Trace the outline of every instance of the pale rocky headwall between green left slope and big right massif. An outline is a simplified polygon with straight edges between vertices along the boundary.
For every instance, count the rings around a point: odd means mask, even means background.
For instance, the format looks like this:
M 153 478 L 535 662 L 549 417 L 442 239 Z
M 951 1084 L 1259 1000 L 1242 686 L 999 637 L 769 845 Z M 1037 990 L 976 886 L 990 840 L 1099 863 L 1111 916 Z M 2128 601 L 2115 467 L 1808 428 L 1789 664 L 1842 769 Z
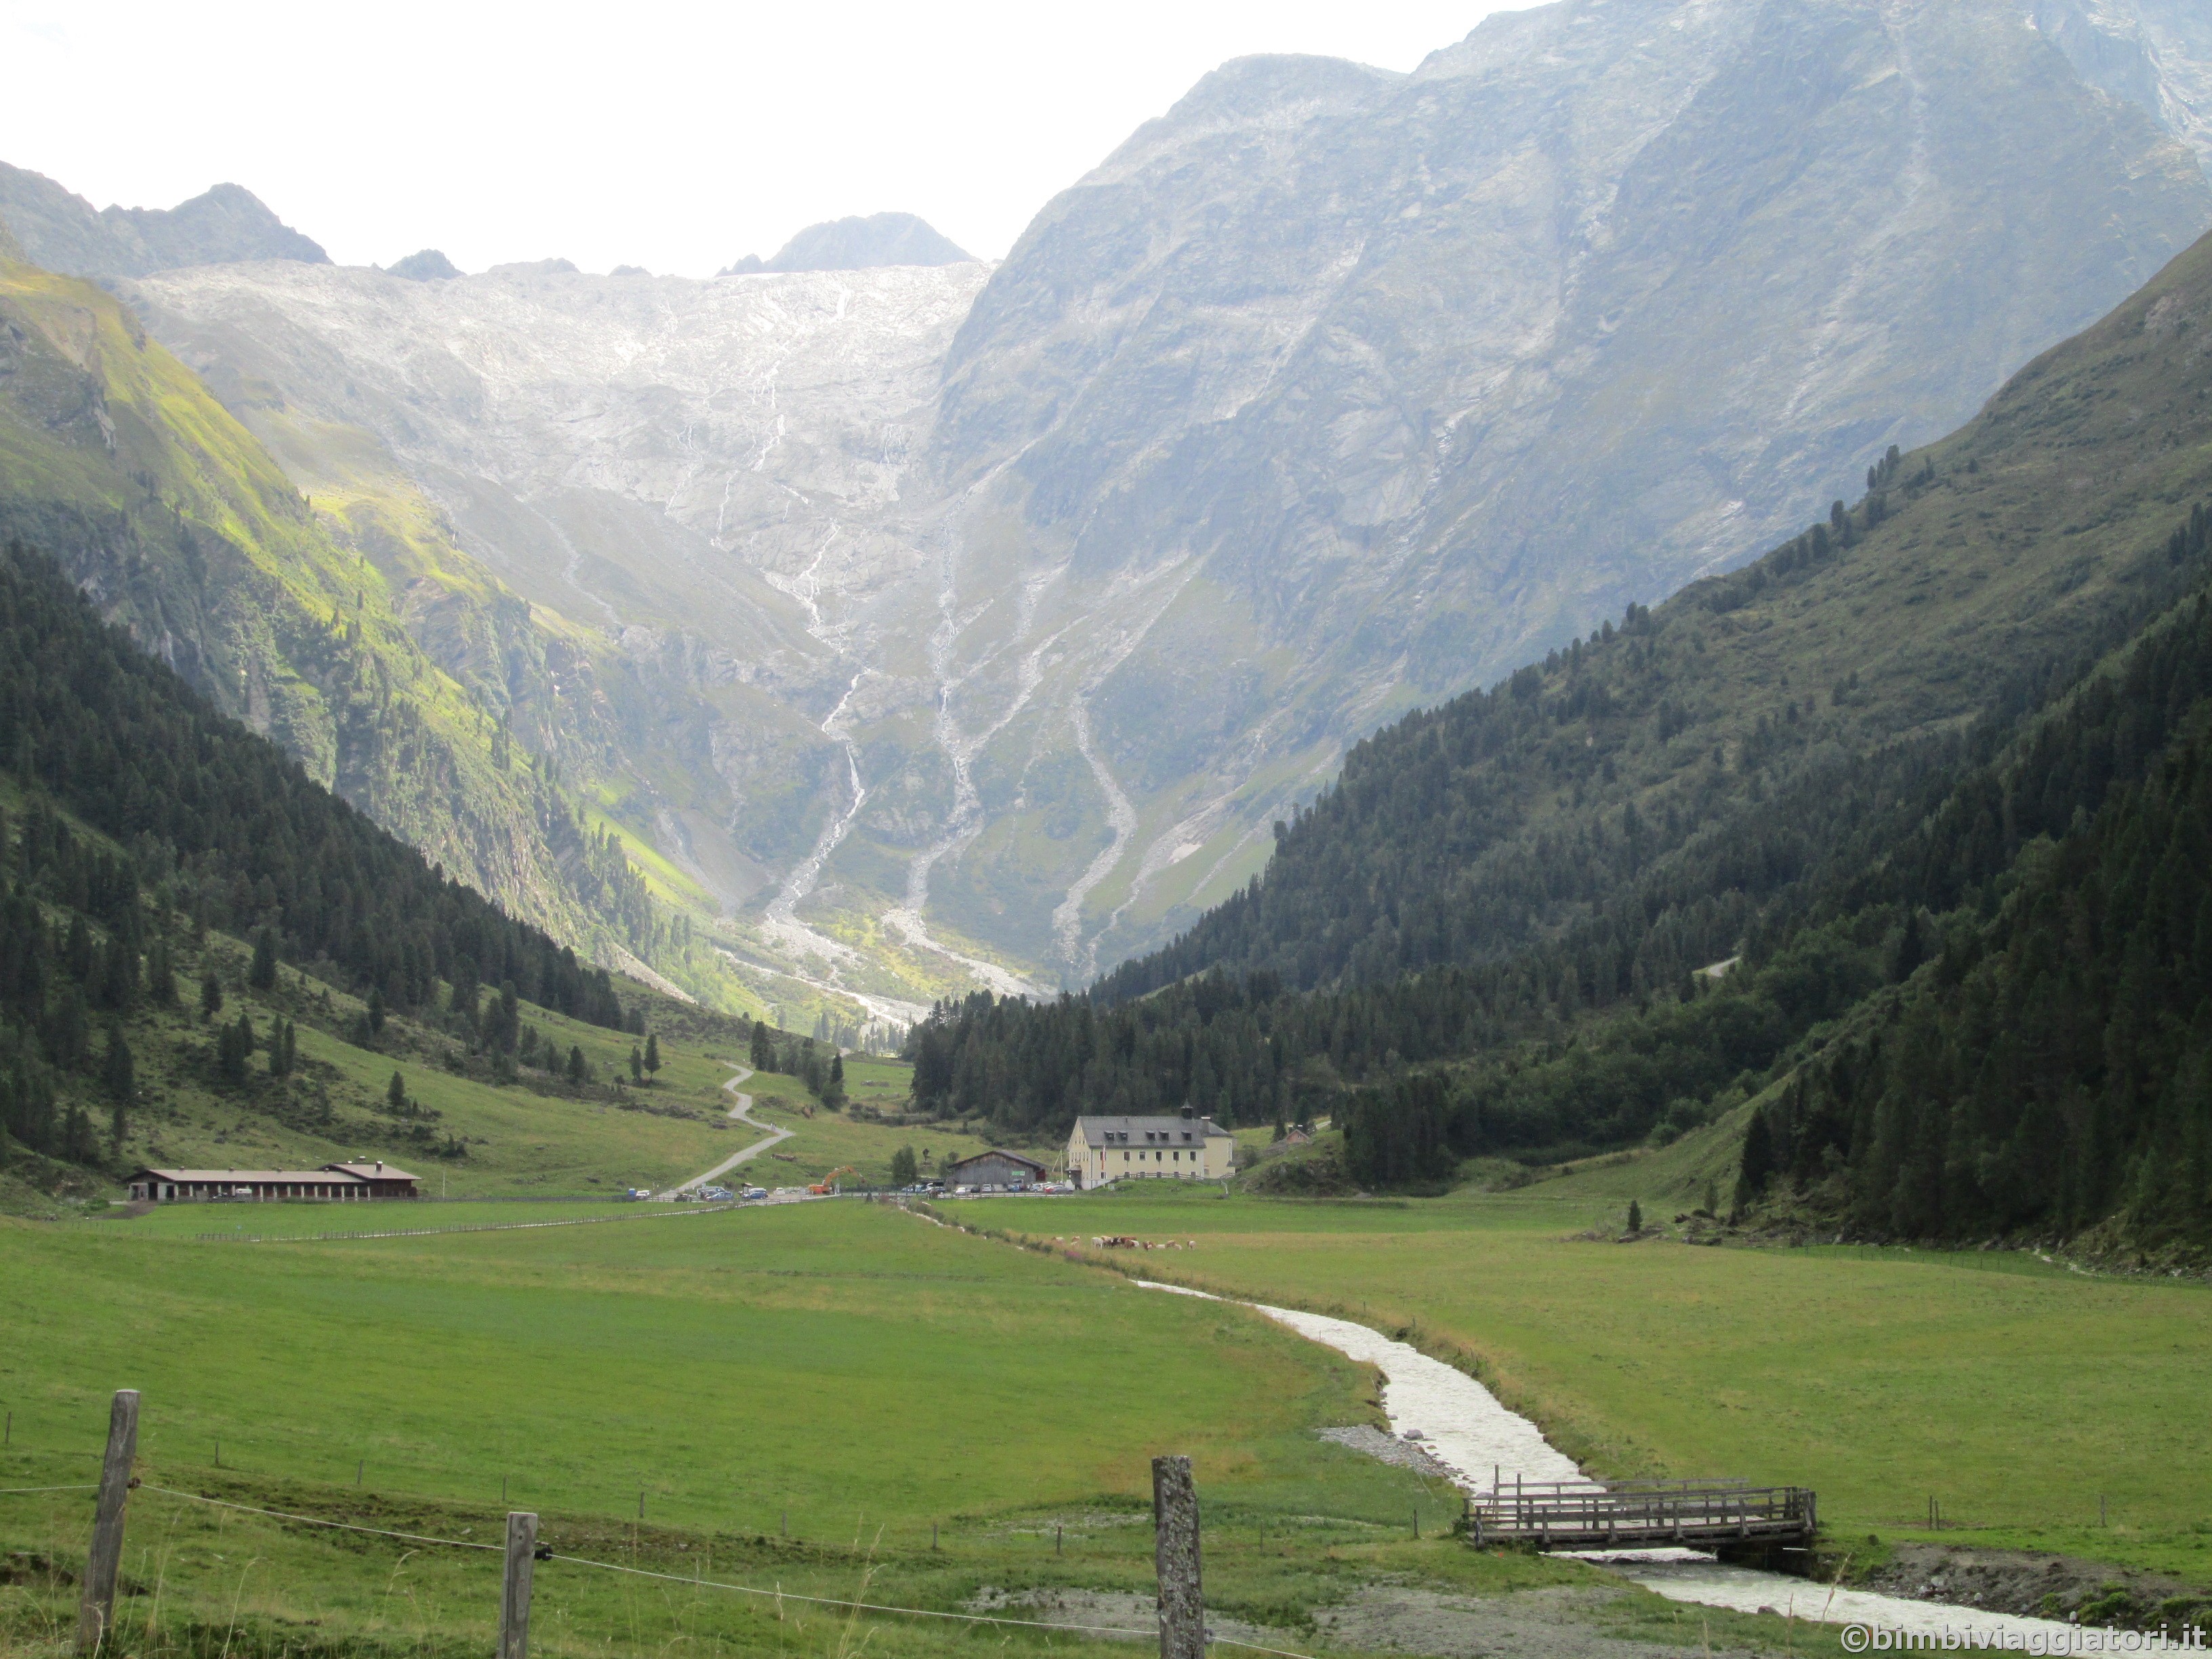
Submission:
M 473 562 L 557 617 L 522 655 L 571 699 L 591 677 L 608 688 L 604 765 L 626 816 L 723 911 L 781 902 L 781 933 L 745 949 L 774 956 L 783 938 L 803 958 L 787 967 L 821 973 L 843 958 L 792 914 L 838 887 L 814 854 L 825 836 L 858 847 L 856 779 L 891 805 L 874 770 L 898 750 L 863 763 L 856 732 L 905 726 L 927 743 L 931 684 L 902 595 L 931 591 L 931 553 L 902 491 L 984 276 L 223 265 L 126 292 L 316 502 L 343 513 L 403 473 L 449 538 L 436 560 Z M 356 535 L 369 557 L 416 568 L 403 511 L 354 518 L 372 524 Z M 422 593 L 425 648 L 522 730 L 522 679 Z M 891 807 L 887 832 L 931 821 Z M 940 980 L 841 987 L 883 991 L 874 1006 L 907 1022 Z

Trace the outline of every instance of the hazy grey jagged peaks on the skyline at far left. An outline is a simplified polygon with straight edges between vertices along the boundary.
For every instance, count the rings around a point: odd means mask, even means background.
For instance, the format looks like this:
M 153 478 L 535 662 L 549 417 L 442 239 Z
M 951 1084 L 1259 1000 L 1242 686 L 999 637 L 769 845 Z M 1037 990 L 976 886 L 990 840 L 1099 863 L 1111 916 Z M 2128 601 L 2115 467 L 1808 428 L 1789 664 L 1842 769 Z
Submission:
M 330 254 L 237 184 L 219 184 L 175 208 L 93 212 L 91 201 L 53 179 L 0 161 L 0 219 L 13 226 L 33 265 L 71 276 L 144 276 L 241 259 L 330 263 Z

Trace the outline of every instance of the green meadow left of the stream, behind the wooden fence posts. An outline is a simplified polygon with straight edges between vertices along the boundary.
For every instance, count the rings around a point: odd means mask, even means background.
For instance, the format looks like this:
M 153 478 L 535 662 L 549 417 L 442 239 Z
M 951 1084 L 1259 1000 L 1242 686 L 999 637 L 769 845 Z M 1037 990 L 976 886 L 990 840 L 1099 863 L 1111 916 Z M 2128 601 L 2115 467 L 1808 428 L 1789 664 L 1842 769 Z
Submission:
M 1327 1349 L 889 1206 L 268 1245 L 175 1214 L 0 1221 L 0 1486 L 88 1480 L 111 1389 L 144 1396 L 117 1652 L 482 1652 L 495 1555 L 252 1511 L 478 1544 L 509 1506 L 562 1555 L 666 1575 L 540 1566 L 540 1652 L 1128 1652 L 796 1597 L 1146 1597 L 1159 1451 L 1194 1458 L 1210 1608 L 1276 1641 L 1374 1584 L 1579 1586 L 1599 1635 L 1783 1639 L 1444 1537 L 1449 1489 L 1314 1438 L 1376 1420 L 1371 1376 Z M 88 1509 L 0 1495 L 0 1648 L 66 1650 Z

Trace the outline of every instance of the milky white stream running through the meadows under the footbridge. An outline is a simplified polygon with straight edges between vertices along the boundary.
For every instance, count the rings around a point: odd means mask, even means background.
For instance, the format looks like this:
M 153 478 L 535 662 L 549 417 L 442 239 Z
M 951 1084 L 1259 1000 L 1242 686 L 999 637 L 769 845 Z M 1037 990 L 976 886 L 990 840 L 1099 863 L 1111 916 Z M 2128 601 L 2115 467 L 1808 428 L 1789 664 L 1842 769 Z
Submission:
M 1177 1296 L 1225 1301 L 1183 1285 L 1161 1285 L 1150 1279 L 1137 1283 L 1146 1290 L 1170 1290 Z M 1544 1433 L 1528 1418 L 1509 1411 L 1475 1378 L 1442 1360 L 1431 1360 L 1418 1347 L 1394 1343 L 1349 1318 L 1303 1314 L 1294 1307 L 1267 1307 L 1265 1303 L 1245 1303 L 1245 1307 L 1323 1347 L 1334 1347 L 1345 1358 L 1383 1371 L 1383 1416 L 1389 1418 L 1391 1431 L 1402 1436 L 1407 1429 L 1418 1429 L 1422 1447 L 1455 1471 L 1462 1489 L 1489 1491 L 1493 1480 L 1511 1484 L 1515 1475 L 1522 1480 L 1584 1480 L 1575 1460 L 1544 1440 Z M 1982 1613 L 1942 1601 L 1832 1588 L 1783 1573 L 1728 1566 L 1697 1551 L 1562 1551 L 1562 1555 L 1599 1562 L 1670 1601 L 1694 1601 L 1736 1613 L 1774 1610 L 1814 1624 L 1865 1624 L 1878 1630 L 1927 1632 L 1938 1639 L 1947 1630 L 1973 1632 L 1973 1639 L 1986 1635 L 1989 1646 L 2031 1637 L 2048 1646 L 2057 1639 L 2079 1637 L 2077 1626 L 2055 1619 L 2024 1619 L 2013 1613 Z M 2070 1648 L 2057 1646 L 2048 1646 L 2048 1650 L 2070 1652 Z

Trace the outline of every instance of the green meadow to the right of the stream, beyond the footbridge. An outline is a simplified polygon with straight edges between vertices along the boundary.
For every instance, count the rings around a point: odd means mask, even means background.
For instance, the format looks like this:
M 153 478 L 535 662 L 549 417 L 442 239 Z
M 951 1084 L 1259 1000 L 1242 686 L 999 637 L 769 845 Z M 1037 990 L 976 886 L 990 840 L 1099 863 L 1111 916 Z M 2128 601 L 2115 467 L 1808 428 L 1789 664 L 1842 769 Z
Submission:
M 1624 1208 L 1553 1183 L 1385 1201 L 1135 1190 L 1066 1201 L 1051 1232 L 1197 1239 L 1082 1254 L 1405 1332 L 1593 1471 L 1814 1486 L 1840 1546 L 1924 1535 L 1936 1498 L 1942 1542 L 2212 1584 L 2201 1283 L 2017 1252 L 1619 1243 Z

